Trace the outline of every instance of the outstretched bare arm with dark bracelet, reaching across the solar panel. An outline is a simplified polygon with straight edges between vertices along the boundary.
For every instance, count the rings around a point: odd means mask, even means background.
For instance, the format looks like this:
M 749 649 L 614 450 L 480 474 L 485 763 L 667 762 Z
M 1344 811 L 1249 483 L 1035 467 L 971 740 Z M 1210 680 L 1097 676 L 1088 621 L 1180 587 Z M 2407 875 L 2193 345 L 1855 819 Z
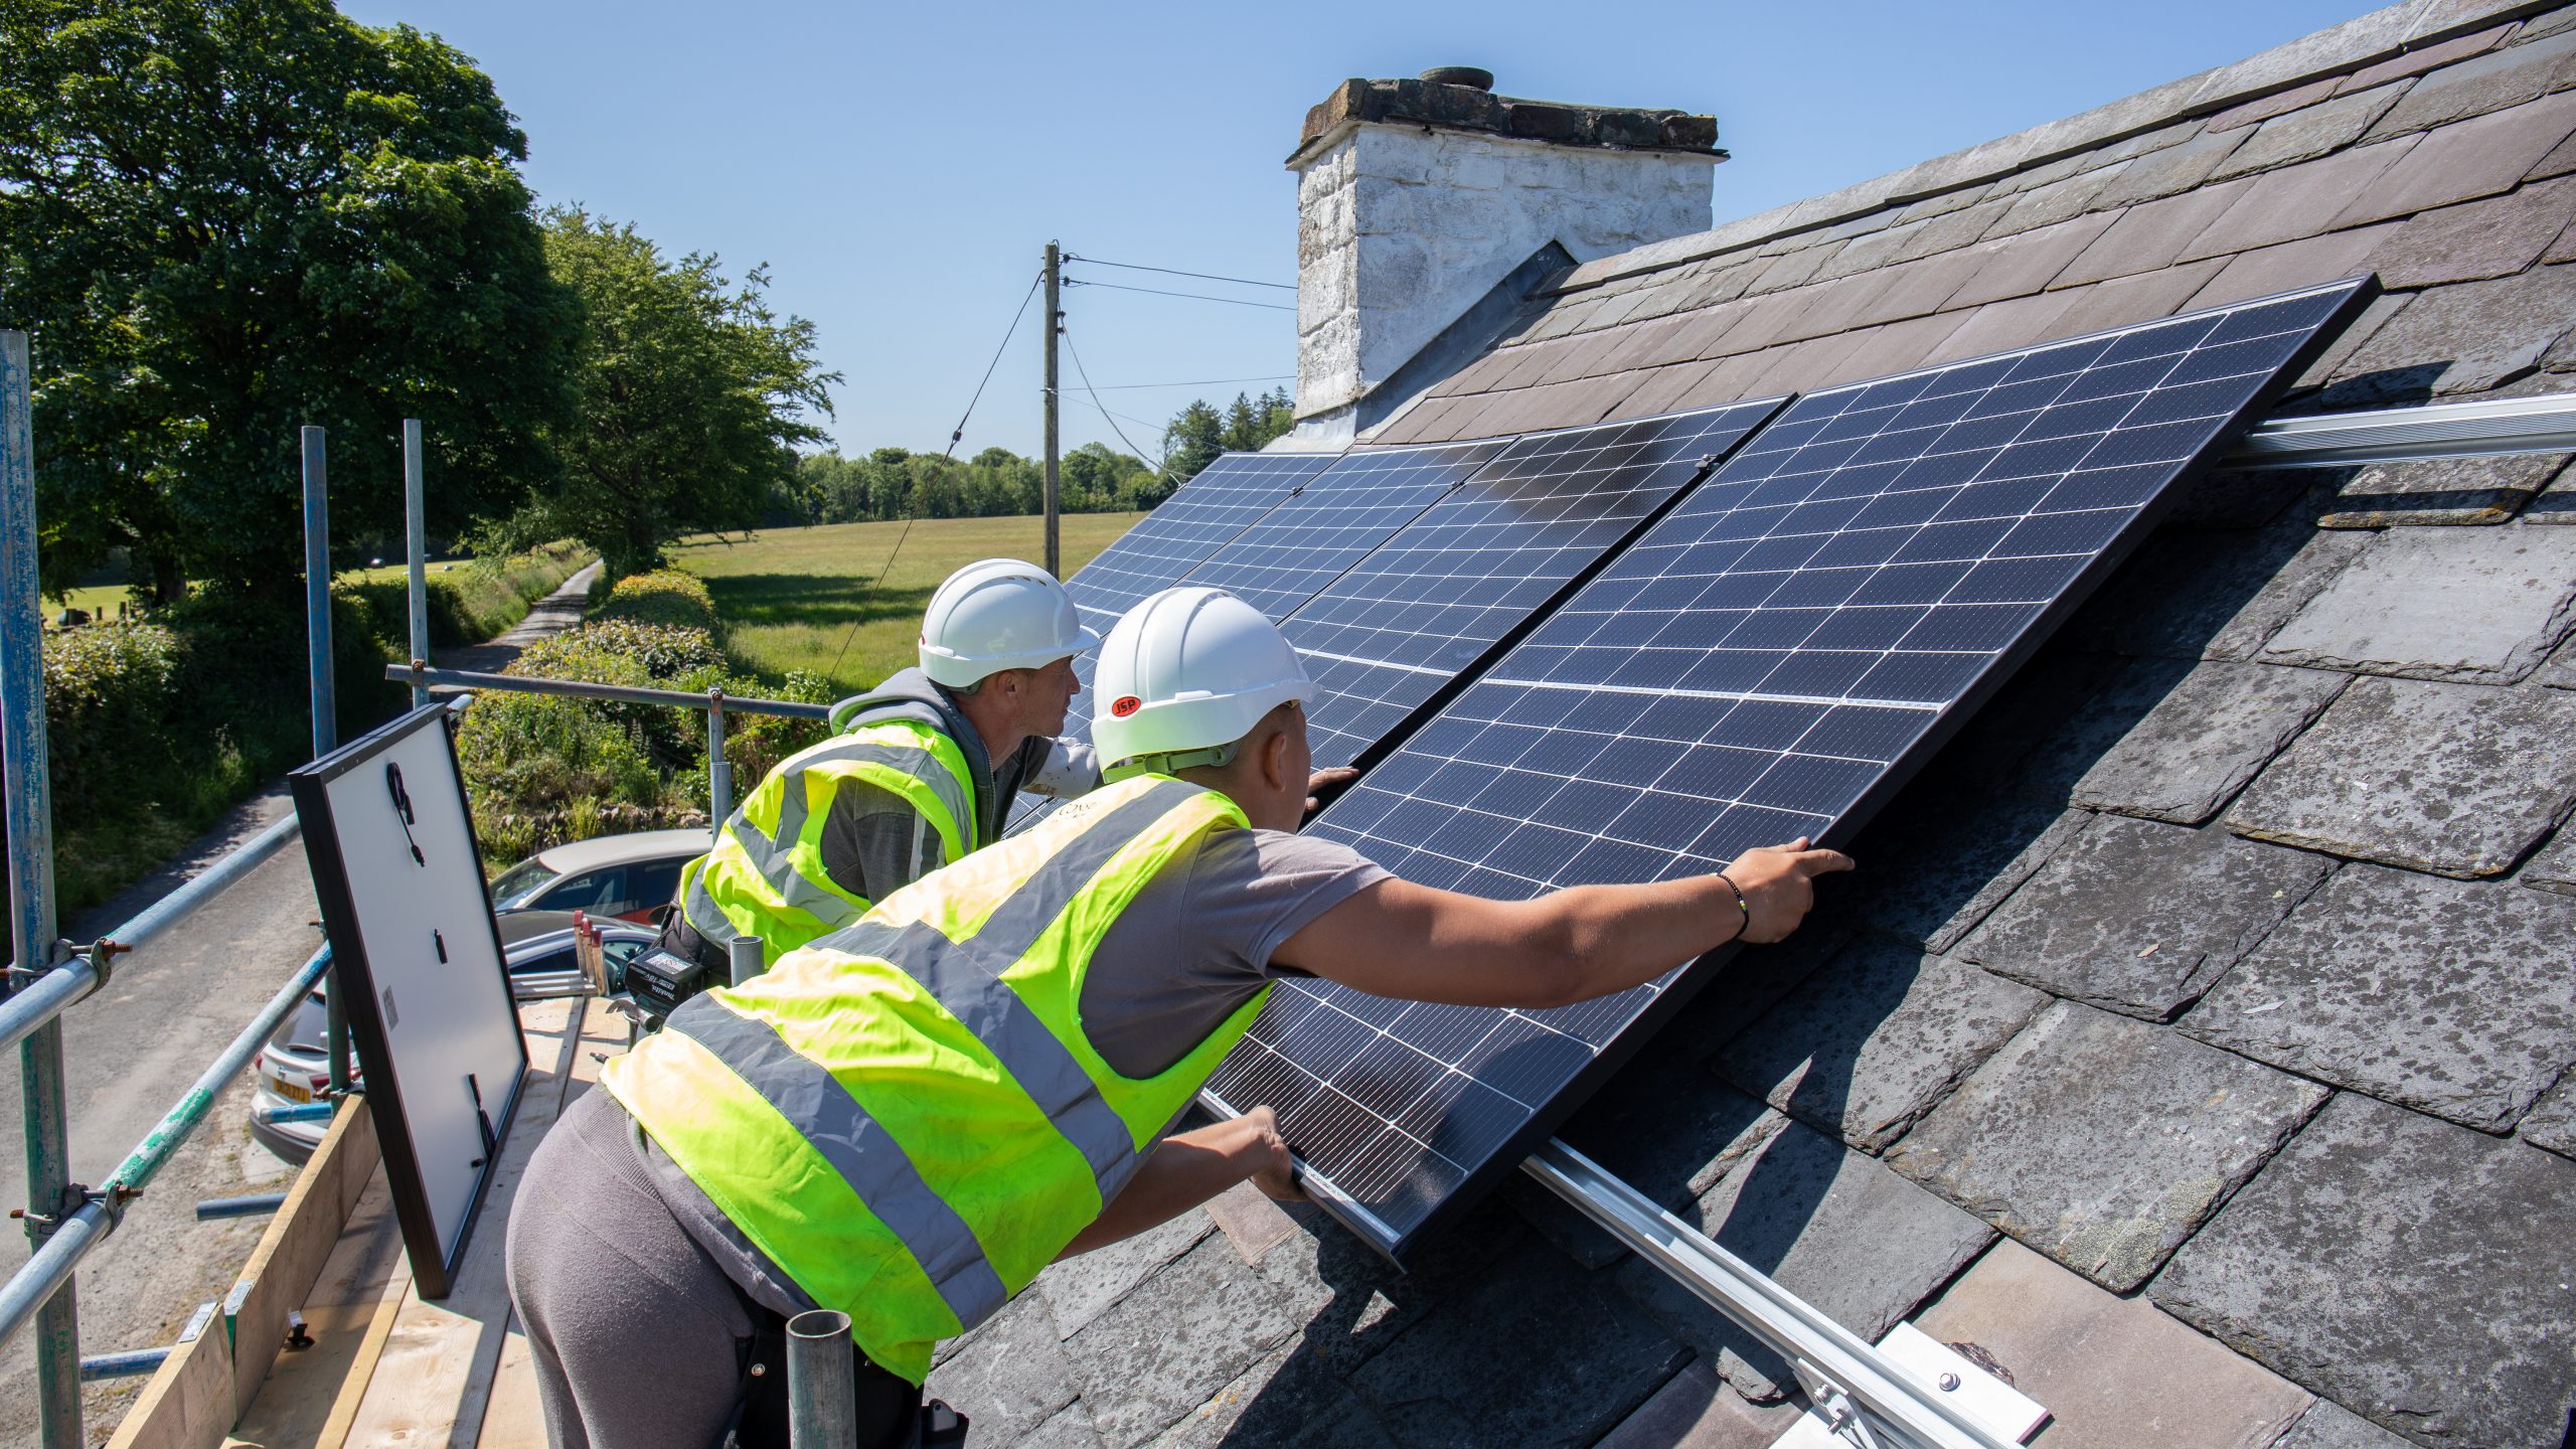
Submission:
M 1370 995 L 1566 1006 L 1649 982 L 1739 933 L 1780 941 L 1814 905 L 1814 877 L 1847 869 L 1839 851 L 1793 841 L 1739 856 L 1726 866 L 1734 884 L 1710 874 L 1484 900 L 1386 879 L 1314 918 L 1273 959 Z

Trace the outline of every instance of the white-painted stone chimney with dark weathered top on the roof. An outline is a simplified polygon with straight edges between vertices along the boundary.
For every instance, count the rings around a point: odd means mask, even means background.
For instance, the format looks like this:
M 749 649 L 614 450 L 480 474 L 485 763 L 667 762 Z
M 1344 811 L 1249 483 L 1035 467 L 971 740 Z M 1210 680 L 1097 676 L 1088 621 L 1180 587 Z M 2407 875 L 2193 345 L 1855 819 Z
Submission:
M 1713 116 L 1515 101 L 1473 67 L 1345 80 L 1288 157 L 1298 438 L 1347 441 L 1466 364 L 1533 273 L 1705 232 L 1721 160 Z

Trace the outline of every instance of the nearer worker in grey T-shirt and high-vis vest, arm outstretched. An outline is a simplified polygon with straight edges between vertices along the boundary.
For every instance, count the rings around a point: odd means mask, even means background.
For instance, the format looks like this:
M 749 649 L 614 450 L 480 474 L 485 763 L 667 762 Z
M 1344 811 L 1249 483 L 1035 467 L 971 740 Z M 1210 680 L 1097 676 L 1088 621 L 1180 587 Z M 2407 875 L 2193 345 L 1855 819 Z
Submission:
M 775 1441 L 817 1307 L 853 1323 L 860 1444 L 917 1441 L 935 1343 L 1048 1263 L 1247 1178 L 1296 1196 L 1267 1106 L 1175 1134 L 1275 977 L 1564 1006 L 1777 941 L 1850 869 L 1793 841 L 1481 900 L 1296 835 L 1314 686 L 1213 588 L 1121 619 L 1095 691 L 1108 784 L 683 1003 L 536 1150 L 510 1292 L 556 1446 Z

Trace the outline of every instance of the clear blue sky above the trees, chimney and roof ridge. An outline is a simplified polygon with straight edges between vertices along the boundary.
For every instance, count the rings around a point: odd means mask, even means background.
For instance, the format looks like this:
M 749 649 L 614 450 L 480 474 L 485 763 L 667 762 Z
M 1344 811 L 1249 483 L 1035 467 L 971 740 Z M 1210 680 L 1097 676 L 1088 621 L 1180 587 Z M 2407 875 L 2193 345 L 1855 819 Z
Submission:
M 811 317 L 824 364 L 848 376 L 832 423 L 845 451 L 948 441 L 1048 237 L 1105 260 L 1296 281 L 1296 186 L 1280 162 L 1306 108 L 1350 75 L 1481 64 L 1504 95 L 1716 113 L 1718 144 L 1734 152 L 1716 175 L 1716 219 L 1731 219 L 2367 10 L 2360 0 L 343 8 L 471 54 L 526 126 L 528 180 L 546 201 L 634 222 L 670 253 L 721 253 L 737 276 L 770 263 L 778 307 Z M 1296 369 L 1291 312 L 1079 289 L 1066 312 L 1100 400 L 1133 418 L 1123 428 L 1146 451 L 1193 394 L 1229 400 L 1236 387 L 1131 384 Z M 1072 361 L 1064 384 L 1079 397 Z M 1064 425 L 1066 449 L 1118 446 L 1087 405 L 1069 405 Z M 1036 307 L 958 451 L 992 443 L 1038 449 Z

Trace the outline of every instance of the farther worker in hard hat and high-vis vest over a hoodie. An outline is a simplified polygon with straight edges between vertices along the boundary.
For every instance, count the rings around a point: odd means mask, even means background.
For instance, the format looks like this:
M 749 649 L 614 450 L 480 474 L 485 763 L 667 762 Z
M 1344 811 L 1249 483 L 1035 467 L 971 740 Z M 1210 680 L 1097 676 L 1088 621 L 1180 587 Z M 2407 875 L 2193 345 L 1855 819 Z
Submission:
M 922 611 L 920 668 L 835 704 L 832 737 L 742 799 L 716 848 L 680 871 L 665 946 L 716 980 L 737 936 L 775 962 L 997 841 L 1018 792 L 1100 784 L 1090 745 L 1056 737 L 1082 694 L 1072 660 L 1097 642 L 1038 565 L 948 575 Z

